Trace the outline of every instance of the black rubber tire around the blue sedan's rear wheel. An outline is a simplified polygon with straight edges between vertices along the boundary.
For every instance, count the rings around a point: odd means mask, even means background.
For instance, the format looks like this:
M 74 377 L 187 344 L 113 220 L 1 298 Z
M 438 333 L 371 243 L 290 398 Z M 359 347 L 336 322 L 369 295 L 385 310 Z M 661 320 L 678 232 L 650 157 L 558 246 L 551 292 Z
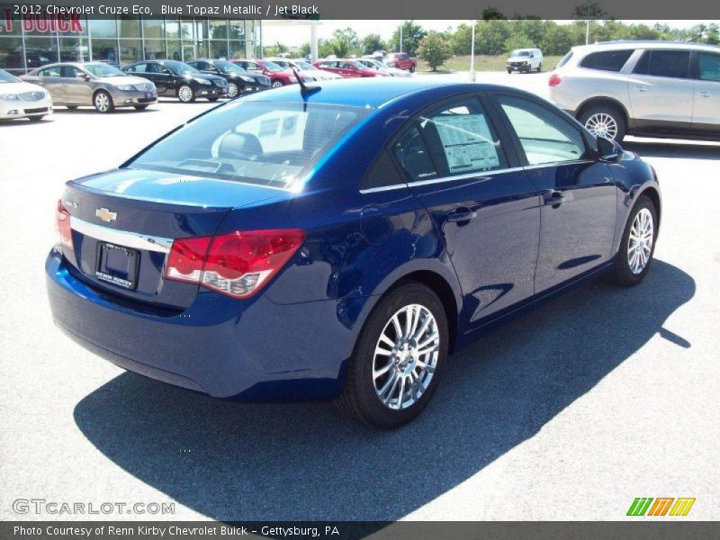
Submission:
M 375 391 L 373 378 L 375 347 L 386 325 L 391 324 L 393 315 L 411 304 L 419 304 L 426 308 L 436 321 L 439 336 L 437 364 L 427 389 L 419 399 L 405 409 L 392 410 L 383 404 Z M 338 409 L 347 416 L 376 428 L 399 428 L 410 422 L 425 409 L 437 390 L 447 363 L 448 342 L 446 312 L 437 294 L 426 285 L 417 282 L 407 282 L 397 286 L 378 302 L 365 321 L 357 338 L 353 356 L 350 358 L 345 387 L 337 400 Z M 394 370 L 395 368 L 392 373 L 395 373 Z M 390 393 L 393 393 L 392 390 Z

